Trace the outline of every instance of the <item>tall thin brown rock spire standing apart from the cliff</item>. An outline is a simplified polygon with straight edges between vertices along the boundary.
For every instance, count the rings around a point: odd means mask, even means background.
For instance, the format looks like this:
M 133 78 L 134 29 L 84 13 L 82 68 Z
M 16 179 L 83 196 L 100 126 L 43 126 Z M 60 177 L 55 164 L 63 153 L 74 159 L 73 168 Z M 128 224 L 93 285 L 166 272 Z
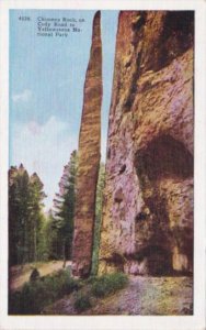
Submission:
M 102 102 L 102 43 L 100 12 L 93 21 L 92 46 L 85 76 L 78 150 L 77 208 L 72 243 L 72 273 L 89 275 L 92 256 L 95 190 L 100 165 Z

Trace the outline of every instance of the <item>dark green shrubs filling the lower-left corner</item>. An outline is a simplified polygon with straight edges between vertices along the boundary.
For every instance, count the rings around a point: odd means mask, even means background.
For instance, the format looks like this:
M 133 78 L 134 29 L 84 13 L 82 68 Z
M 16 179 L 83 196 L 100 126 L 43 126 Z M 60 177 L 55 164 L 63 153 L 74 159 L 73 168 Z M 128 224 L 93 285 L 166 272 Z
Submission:
M 46 305 L 78 289 L 78 280 L 71 278 L 68 271 L 60 271 L 55 275 L 25 283 L 21 292 L 10 294 L 9 314 L 41 314 Z

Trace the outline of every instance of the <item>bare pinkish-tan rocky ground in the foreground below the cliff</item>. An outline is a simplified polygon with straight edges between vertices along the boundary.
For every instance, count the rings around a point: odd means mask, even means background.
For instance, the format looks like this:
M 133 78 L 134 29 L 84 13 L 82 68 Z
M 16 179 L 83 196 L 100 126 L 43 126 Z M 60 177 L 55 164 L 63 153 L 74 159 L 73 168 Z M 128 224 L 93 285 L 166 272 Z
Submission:
M 48 306 L 44 315 L 78 315 L 75 294 Z M 172 316 L 193 314 L 192 277 L 130 276 L 126 288 L 104 299 L 81 315 Z

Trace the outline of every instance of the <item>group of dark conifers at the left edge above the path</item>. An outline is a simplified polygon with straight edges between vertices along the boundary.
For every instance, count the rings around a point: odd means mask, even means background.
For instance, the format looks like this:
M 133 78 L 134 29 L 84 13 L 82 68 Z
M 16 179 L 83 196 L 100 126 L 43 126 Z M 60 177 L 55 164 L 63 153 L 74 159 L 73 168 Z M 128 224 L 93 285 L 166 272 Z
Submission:
M 24 264 L 38 258 L 39 232 L 44 222 L 43 184 L 21 164 L 9 170 L 9 262 Z

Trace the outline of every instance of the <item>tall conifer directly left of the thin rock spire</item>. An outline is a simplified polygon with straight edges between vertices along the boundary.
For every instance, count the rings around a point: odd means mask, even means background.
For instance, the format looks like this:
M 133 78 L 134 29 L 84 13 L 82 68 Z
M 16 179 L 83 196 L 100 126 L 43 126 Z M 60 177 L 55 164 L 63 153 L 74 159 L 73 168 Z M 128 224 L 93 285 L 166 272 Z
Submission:
M 57 232 L 57 254 L 66 260 L 71 257 L 73 217 L 76 204 L 77 151 L 73 151 L 69 163 L 64 167 L 59 182 L 59 193 L 54 199 L 53 228 Z

